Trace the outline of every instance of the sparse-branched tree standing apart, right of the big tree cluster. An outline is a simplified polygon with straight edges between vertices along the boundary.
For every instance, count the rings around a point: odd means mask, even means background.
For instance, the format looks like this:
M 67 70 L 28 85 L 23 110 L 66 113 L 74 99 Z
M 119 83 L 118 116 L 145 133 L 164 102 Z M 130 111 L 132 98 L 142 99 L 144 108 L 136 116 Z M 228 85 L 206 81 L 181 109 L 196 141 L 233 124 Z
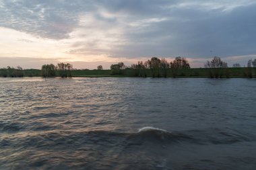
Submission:
M 221 60 L 219 56 L 214 56 L 212 61 L 207 60 L 205 63 L 205 68 L 209 69 L 209 74 L 211 78 L 222 78 L 224 71 L 226 71 L 226 77 L 229 77 L 227 62 Z

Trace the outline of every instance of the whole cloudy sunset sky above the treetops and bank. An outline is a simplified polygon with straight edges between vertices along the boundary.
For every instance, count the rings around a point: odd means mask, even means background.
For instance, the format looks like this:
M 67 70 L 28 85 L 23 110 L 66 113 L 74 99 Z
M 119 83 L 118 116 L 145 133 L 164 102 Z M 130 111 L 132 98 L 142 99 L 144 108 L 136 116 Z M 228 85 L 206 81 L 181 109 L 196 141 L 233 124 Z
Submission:
M 256 58 L 255 0 L 0 0 L 0 68 Z

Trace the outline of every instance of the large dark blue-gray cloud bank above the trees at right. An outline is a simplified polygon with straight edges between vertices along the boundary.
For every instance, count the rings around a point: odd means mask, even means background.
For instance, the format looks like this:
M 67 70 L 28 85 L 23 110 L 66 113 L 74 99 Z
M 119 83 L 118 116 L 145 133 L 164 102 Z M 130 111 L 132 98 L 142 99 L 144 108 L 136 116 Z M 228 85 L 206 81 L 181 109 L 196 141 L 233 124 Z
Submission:
M 131 44 L 121 46 L 116 55 L 209 57 L 255 54 L 255 8 L 256 5 L 232 11 L 172 9 L 170 16 L 174 19 L 170 17 L 153 23 L 142 33 L 127 32 Z

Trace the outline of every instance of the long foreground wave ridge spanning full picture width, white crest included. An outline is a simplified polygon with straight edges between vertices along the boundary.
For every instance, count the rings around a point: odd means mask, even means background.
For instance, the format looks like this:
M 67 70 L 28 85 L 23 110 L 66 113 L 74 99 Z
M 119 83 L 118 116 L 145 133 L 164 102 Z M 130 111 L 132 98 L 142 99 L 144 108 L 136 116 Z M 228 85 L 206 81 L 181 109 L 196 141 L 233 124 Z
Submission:
M 0 124 L 0 129 L 7 132 L 17 132 L 16 124 L 6 126 Z M 0 131 L 1 132 L 1 131 Z M 236 142 L 255 141 L 253 134 L 243 134 L 232 130 L 207 129 L 207 130 L 189 130 L 173 131 L 143 127 L 137 132 L 113 132 L 107 130 L 77 131 L 77 130 L 44 130 L 44 131 L 20 131 L 15 134 L 5 134 L 0 136 L 0 147 L 6 144 L 20 144 L 26 146 L 59 146 L 59 144 L 121 144 L 126 146 L 143 144 L 232 144 Z

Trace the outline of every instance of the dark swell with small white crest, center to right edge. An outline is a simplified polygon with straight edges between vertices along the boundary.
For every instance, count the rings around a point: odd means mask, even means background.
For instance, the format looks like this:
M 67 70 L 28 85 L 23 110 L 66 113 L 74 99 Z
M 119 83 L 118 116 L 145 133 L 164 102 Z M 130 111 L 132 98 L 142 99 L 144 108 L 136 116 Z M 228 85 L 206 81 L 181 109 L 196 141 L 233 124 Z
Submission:
M 137 132 L 111 132 L 111 131 L 90 131 L 87 132 L 92 136 L 106 138 L 125 138 L 126 142 L 164 142 L 164 143 L 181 143 L 189 142 L 193 144 L 232 144 L 236 142 L 255 141 L 254 134 L 244 134 L 234 130 L 222 130 L 218 128 L 208 128 L 204 130 L 187 130 L 187 131 L 168 131 L 160 128 L 146 126 L 140 128 Z

